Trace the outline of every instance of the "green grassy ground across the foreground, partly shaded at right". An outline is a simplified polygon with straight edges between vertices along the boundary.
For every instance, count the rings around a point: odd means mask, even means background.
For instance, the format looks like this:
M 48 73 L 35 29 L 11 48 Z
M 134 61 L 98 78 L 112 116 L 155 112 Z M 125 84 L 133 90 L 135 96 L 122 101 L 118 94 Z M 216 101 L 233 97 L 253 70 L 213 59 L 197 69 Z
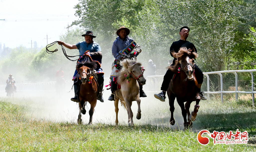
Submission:
M 157 104 L 161 107 L 161 103 Z M 161 108 L 161 115 L 157 110 L 144 112 L 147 118 L 129 127 L 126 123 L 77 125 L 75 121 L 34 118 L 30 107 L 2 98 L 0 151 L 256 151 L 255 137 L 250 137 L 248 144 L 229 145 L 214 145 L 210 139 L 205 146 L 196 138 L 202 129 L 210 132 L 239 129 L 255 135 L 256 108 L 251 106 L 250 100 L 227 100 L 223 104 L 215 99 L 201 102 L 193 129 L 185 131 L 182 123 L 176 127 L 165 123 L 170 118 L 166 104 L 162 105 L 165 108 Z M 177 105 L 175 108 L 175 119 L 182 119 L 178 114 L 180 108 Z M 163 123 L 154 123 L 155 119 Z

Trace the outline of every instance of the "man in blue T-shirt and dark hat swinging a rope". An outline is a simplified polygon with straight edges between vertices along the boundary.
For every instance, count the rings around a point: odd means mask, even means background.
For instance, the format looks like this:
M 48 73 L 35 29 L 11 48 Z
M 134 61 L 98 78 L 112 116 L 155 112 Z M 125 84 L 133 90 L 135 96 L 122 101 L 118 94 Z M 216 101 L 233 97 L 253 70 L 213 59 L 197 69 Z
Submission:
M 95 56 L 98 58 L 97 61 L 100 62 L 101 64 L 101 59 L 102 59 L 102 54 L 101 54 L 101 48 L 100 45 L 96 42 L 93 41 L 93 38 L 95 38 L 96 36 L 93 35 L 92 31 L 86 31 L 85 34 L 83 34 L 82 36 L 84 36 L 85 41 L 83 42 L 78 42 L 77 44 L 68 44 L 62 41 L 59 41 L 58 44 L 62 44 L 63 46 L 69 48 L 69 49 L 78 49 L 79 50 L 79 55 L 84 55 L 84 53 L 89 50 L 90 51 L 90 56 Z M 103 83 L 104 83 L 104 76 L 103 76 L 103 70 L 102 68 L 97 68 L 95 69 L 97 71 L 97 76 L 98 76 L 98 83 L 99 83 L 99 87 L 100 87 L 100 94 L 98 97 L 98 100 L 100 100 L 100 102 L 104 102 L 103 96 L 102 96 L 102 90 L 103 90 Z M 79 102 L 78 100 L 78 94 L 79 94 L 79 79 L 77 78 L 77 70 L 75 70 L 74 76 L 73 76 L 73 81 L 74 81 L 74 91 L 75 91 L 75 96 L 73 98 L 71 98 L 72 101 L 74 102 Z

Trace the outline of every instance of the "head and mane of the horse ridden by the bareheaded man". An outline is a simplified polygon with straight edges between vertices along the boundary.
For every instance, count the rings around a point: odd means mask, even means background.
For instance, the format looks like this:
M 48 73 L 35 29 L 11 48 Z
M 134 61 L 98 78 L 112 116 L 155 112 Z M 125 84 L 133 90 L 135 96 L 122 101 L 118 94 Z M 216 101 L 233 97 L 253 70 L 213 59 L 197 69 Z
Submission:
M 195 49 L 180 48 L 178 53 L 173 53 L 174 57 L 178 59 L 181 69 L 185 71 L 188 80 L 194 79 L 195 58 L 198 56 Z

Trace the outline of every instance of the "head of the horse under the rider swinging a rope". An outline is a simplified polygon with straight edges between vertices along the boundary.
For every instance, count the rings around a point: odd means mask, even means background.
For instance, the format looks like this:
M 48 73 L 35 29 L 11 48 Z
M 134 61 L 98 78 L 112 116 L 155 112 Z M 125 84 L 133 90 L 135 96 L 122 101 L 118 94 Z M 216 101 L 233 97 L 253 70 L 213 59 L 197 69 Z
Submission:
M 85 84 L 89 80 L 89 77 L 92 74 L 91 71 L 97 69 L 97 67 L 98 64 L 95 61 L 77 63 L 76 69 L 80 75 L 82 84 Z

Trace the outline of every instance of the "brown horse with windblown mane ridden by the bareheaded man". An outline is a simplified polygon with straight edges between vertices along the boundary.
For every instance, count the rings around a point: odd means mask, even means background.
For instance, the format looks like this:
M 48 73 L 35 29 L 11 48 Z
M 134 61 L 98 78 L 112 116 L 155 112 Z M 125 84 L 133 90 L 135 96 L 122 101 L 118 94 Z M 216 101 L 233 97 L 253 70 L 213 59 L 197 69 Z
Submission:
M 194 51 L 194 49 L 187 50 L 187 48 L 182 47 L 178 53 L 173 52 L 173 56 L 178 60 L 176 60 L 174 66 L 169 66 L 169 69 L 176 73 L 167 90 L 171 111 L 170 124 L 175 124 L 173 112 L 174 100 L 176 98 L 182 110 L 184 127 L 186 129 L 192 128 L 193 123 L 191 121 L 195 121 L 196 119 L 198 108 L 200 107 L 198 104 L 201 99 L 199 93 L 197 93 L 198 83 L 194 74 L 194 62 L 198 55 Z M 190 115 L 189 107 L 193 101 L 196 101 L 196 105 L 194 111 Z M 186 102 L 185 107 L 184 102 Z M 186 115 L 188 115 L 188 122 L 186 120 Z

